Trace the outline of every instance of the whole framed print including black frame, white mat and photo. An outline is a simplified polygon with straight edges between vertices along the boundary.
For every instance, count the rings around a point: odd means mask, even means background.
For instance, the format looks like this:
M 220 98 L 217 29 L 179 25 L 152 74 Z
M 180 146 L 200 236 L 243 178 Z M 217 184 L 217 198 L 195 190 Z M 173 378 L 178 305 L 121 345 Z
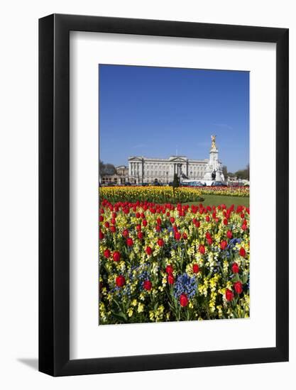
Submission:
M 288 360 L 288 30 L 39 21 L 39 369 Z

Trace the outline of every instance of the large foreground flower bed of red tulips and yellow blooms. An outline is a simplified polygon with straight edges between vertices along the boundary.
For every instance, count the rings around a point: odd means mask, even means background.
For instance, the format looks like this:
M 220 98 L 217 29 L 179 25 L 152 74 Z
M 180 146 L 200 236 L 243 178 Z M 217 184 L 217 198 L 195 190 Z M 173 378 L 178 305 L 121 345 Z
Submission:
M 249 316 L 244 206 L 104 199 L 99 244 L 100 324 Z

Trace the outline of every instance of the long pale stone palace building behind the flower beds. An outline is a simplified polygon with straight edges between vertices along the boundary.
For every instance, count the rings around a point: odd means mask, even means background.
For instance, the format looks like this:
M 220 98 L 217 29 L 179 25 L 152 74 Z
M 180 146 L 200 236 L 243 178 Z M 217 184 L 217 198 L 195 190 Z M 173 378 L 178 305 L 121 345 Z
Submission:
M 209 160 L 190 160 L 185 156 L 169 158 L 128 157 L 128 179 L 134 183 L 169 183 L 178 177 L 202 179 Z

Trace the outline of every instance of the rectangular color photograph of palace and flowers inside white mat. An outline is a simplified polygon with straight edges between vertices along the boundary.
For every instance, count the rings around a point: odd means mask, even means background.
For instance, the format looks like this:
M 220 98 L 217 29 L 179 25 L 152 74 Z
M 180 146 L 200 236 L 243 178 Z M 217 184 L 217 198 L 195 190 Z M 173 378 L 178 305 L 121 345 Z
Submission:
M 249 72 L 99 65 L 99 325 L 250 316 Z

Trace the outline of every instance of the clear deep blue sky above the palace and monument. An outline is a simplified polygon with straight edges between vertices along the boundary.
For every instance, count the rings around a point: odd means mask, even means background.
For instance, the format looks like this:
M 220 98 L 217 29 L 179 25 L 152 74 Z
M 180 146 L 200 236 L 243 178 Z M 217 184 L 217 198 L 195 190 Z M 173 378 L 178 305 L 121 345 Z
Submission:
M 100 159 L 209 158 L 211 134 L 229 172 L 249 162 L 249 73 L 99 65 Z

